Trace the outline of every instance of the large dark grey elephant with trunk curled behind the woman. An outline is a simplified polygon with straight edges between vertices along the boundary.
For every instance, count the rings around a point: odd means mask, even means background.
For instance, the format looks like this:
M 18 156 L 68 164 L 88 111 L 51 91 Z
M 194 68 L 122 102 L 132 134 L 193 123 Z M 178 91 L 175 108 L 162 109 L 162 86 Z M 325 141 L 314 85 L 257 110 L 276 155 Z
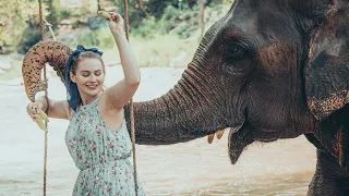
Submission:
M 38 51 L 44 47 L 51 54 Z M 45 85 L 43 59 L 62 77 L 71 51 L 50 42 L 33 48 L 39 57 L 23 64 L 28 96 Z M 317 154 L 308 195 L 349 195 L 348 75 L 348 0 L 236 0 L 205 33 L 178 83 L 133 103 L 135 143 L 171 145 L 230 128 L 234 164 L 254 142 L 304 135 Z

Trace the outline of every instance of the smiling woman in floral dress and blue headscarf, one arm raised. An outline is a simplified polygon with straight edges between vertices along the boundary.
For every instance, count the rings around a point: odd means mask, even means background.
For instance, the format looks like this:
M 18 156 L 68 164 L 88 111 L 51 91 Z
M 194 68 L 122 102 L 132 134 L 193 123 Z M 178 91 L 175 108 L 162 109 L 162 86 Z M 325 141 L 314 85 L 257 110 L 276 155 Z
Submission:
M 104 90 L 105 65 L 97 49 L 79 46 L 65 69 L 68 101 L 45 97 L 28 103 L 35 121 L 40 111 L 49 118 L 70 120 L 68 149 L 81 170 L 73 195 L 135 195 L 133 167 L 128 159 L 132 146 L 123 107 L 135 94 L 140 68 L 123 32 L 123 19 L 109 13 L 109 27 L 117 42 L 124 79 Z M 137 195 L 144 195 L 137 187 Z

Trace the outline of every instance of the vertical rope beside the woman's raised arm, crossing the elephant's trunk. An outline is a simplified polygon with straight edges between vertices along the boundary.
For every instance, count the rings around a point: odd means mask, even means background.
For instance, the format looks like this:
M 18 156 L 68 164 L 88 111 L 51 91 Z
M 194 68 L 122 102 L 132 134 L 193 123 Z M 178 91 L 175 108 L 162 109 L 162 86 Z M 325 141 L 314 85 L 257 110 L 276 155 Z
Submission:
M 124 32 L 127 39 L 129 41 L 129 8 L 128 0 L 123 0 L 123 10 L 124 10 Z M 135 132 L 134 132 L 134 113 L 133 113 L 133 100 L 130 100 L 130 120 L 131 120 L 131 140 L 132 140 L 132 152 L 133 152 L 133 179 L 134 179 L 134 192 L 135 196 L 139 195 L 137 192 L 137 167 L 135 159 Z

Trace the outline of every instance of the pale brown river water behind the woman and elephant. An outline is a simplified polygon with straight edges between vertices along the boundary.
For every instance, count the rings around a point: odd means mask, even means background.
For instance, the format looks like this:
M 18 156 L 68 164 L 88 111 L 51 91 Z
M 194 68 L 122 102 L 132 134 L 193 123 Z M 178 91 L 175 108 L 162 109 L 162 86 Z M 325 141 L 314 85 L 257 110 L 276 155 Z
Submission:
M 50 70 L 49 70 L 50 71 Z M 181 69 L 142 69 L 134 100 L 149 100 L 170 89 Z M 111 76 L 110 76 L 111 75 Z M 109 76 L 109 77 L 108 77 Z M 107 85 L 122 76 L 107 71 Z M 21 78 L 7 82 L 16 84 Z M 58 78 L 49 77 L 49 97 L 64 99 Z M 43 195 L 44 133 L 26 115 L 23 87 L 0 88 L 0 196 Z M 79 170 L 64 143 L 68 121 L 51 119 L 48 133 L 47 195 L 71 195 Z M 237 164 L 228 158 L 228 133 L 168 146 L 136 145 L 137 172 L 147 195 L 305 195 L 315 169 L 315 148 L 299 136 L 254 144 Z

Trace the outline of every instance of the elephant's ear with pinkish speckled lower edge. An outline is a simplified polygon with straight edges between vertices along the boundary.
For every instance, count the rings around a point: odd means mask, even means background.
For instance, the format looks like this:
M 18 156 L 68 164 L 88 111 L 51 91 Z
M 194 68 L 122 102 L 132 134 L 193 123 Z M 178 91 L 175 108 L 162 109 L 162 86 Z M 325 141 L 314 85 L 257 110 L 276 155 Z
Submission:
M 323 121 L 349 102 L 349 7 L 332 11 L 314 35 L 304 68 L 308 106 Z

